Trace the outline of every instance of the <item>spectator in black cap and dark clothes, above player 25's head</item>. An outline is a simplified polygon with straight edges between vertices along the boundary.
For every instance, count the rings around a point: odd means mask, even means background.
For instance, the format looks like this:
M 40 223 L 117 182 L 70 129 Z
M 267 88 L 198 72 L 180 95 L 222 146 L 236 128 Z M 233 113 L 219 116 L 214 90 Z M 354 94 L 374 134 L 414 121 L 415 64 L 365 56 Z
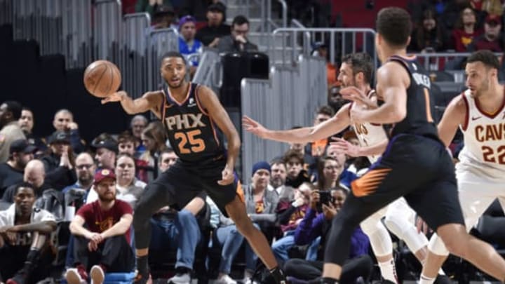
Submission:
M 207 8 L 207 25 L 196 32 L 196 39 L 204 46 L 216 48 L 222 36 L 231 33 L 229 25 L 224 23 L 226 6 L 221 2 L 210 4 Z

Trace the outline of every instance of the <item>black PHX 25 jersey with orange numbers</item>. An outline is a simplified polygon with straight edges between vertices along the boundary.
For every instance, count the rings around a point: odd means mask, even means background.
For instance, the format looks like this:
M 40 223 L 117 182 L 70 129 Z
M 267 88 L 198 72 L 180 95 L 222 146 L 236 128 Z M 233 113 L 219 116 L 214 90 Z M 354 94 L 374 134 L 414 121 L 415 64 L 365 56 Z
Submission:
M 168 86 L 163 87 L 161 121 L 170 145 L 182 161 L 212 161 L 226 154 L 220 129 L 198 101 L 199 88 L 191 83 L 184 101 L 177 102 Z

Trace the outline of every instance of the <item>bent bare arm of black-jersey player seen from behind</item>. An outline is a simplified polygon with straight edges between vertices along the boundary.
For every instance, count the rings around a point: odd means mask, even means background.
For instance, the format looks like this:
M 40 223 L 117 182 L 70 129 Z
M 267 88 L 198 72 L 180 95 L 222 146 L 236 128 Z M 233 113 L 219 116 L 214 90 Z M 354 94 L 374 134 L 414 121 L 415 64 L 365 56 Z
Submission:
M 377 70 L 377 97 L 384 104 L 377 109 L 351 111 L 351 119 L 379 124 L 397 123 L 407 115 L 407 88 L 410 77 L 404 67 L 396 62 L 388 62 Z

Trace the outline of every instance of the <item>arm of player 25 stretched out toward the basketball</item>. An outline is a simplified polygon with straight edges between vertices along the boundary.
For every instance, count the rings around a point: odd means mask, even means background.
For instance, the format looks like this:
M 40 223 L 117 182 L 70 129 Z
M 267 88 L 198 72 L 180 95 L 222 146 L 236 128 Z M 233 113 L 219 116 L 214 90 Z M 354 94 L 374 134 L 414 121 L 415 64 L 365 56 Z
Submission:
M 127 114 L 139 114 L 148 110 L 156 112 L 156 107 L 161 105 L 163 97 L 160 94 L 160 91 L 147 92 L 144 93 L 142 97 L 133 100 L 125 91 L 121 90 L 103 99 L 102 104 L 106 104 L 107 102 L 120 102 L 121 107 L 123 107 Z

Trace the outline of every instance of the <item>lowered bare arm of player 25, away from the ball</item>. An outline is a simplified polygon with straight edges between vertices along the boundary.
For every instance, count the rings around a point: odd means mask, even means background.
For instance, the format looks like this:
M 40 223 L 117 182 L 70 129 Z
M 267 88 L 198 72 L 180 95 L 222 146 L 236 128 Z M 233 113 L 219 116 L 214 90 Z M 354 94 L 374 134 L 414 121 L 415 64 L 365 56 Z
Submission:
M 238 132 L 231 122 L 226 110 L 220 103 L 217 95 L 207 88 L 206 86 L 201 86 L 198 89 L 198 100 L 200 100 L 203 109 L 207 110 L 210 119 L 215 121 L 217 127 L 220 128 L 224 136 L 227 138 L 228 142 L 228 159 L 227 165 L 222 171 L 222 180 L 218 181 L 218 184 L 226 185 L 234 182 L 234 168 L 236 158 L 238 157 L 238 151 L 240 151 L 241 141 Z

